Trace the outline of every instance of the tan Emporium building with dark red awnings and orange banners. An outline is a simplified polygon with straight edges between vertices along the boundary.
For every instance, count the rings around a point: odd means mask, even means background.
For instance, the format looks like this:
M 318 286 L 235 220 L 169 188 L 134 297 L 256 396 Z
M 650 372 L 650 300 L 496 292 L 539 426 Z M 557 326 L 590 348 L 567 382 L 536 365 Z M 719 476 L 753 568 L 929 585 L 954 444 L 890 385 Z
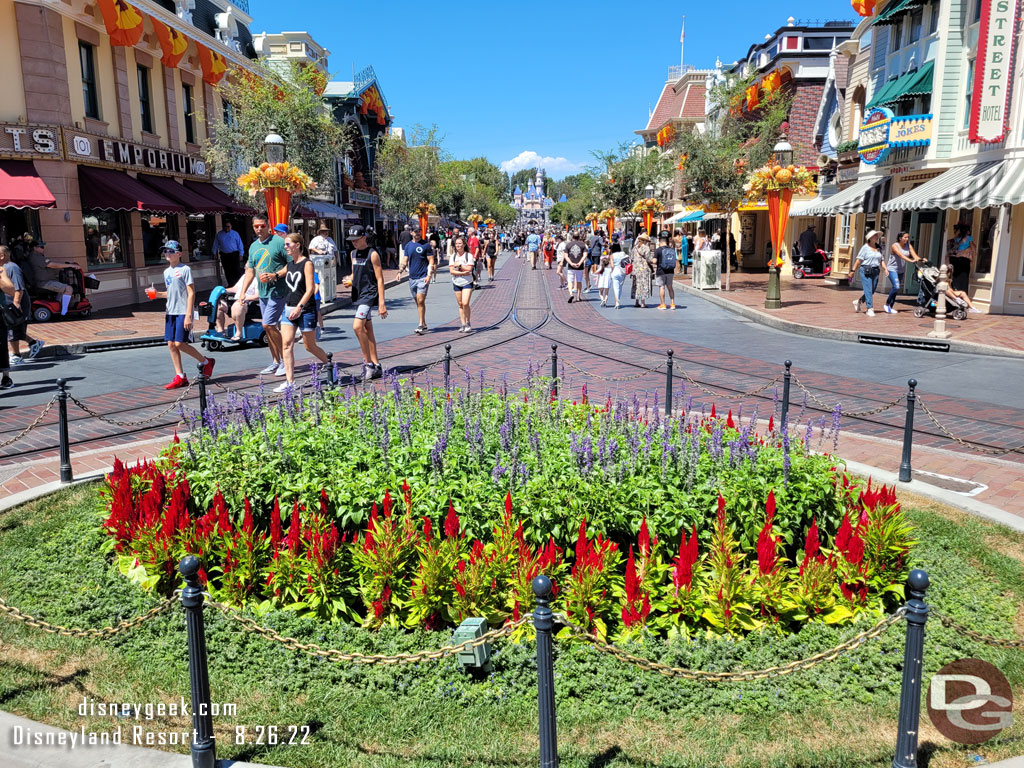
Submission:
M 166 240 L 197 262 L 198 283 L 216 281 L 212 244 L 223 219 L 246 243 L 252 237 L 252 209 L 212 183 L 202 153 L 230 119 L 215 84 L 256 57 L 246 7 L 0 3 L 0 243 L 31 232 L 50 258 L 94 273 L 96 308 L 144 300 L 161 281 Z

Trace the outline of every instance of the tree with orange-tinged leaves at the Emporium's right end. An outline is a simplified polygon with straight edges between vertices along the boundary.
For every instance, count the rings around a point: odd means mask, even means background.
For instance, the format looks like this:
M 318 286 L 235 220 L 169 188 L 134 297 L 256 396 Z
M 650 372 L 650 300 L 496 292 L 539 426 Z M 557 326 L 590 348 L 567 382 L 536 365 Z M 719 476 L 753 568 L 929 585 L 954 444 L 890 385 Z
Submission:
M 213 175 L 228 180 L 236 198 L 248 199 L 234 179 L 266 160 L 263 139 L 273 128 L 285 139 L 286 159 L 309 174 L 318 191 L 334 191 L 335 159 L 345 153 L 349 137 L 316 95 L 323 75 L 296 63 L 284 74 L 253 66 L 257 73 L 240 70 L 217 86 L 231 111 L 206 147 Z

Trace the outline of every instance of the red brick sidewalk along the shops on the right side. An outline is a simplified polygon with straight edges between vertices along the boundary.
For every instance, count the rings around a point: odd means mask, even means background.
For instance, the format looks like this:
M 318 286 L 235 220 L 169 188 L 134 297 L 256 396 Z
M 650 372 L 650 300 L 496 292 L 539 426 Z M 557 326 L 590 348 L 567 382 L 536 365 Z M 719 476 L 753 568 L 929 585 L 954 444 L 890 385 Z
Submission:
M 676 286 L 683 291 L 781 331 L 838 341 L 859 341 L 861 334 L 936 341 L 928 337 L 934 318 L 914 317 L 911 296 L 897 298 L 899 314 L 893 315 L 882 310 L 886 294 L 877 293 L 877 314 L 868 317 L 853 311 L 853 299 L 862 295 L 860 289 L 830 285 L 820 278 L 796 280 L 783 272 L 782 308 L 766 310 L 767 285 L 767 272 L 740 272 L 732 274 L 730 291 L 697 291 L 691 275 L 676 275 Z M 966 321 L 947 316 L 946 330 L 952 333 L 947 339 L 950 351 L 1024 357 L 1024 315 L 969 314 Z

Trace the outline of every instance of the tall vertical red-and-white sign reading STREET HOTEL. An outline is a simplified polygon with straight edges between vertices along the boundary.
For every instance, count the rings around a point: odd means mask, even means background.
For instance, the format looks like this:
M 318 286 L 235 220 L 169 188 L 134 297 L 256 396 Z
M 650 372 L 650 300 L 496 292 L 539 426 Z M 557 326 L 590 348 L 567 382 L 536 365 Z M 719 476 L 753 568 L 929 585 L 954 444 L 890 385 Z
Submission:
M 981 0 L 981 33 L 971 97 L 972 141 L 994 143 L 1007 135 L 1019 6 L 1020 0 Z

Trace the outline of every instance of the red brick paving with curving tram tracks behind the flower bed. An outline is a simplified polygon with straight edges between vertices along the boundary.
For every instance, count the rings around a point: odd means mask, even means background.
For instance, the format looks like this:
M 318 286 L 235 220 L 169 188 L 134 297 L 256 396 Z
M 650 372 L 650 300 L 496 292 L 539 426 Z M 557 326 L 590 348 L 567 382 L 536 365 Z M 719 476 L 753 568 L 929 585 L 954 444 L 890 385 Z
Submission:
M 562 396 L 579 399 L 581 387 L 587 383 L 590 397 L 594 400 L 603 400 L 606 394 L 631 397 L 636 393 L 641 401 L 652 408 L 655 397 L 664 397 L 665 351 L 673 348 L 676 352 L 677 378 L 673 386 L 677 408 L 710 411 L 714 402 L 719 411 L 742 409 L 748 417 L 755 409 L 762 419 L 771 413 L 777 383 L 770 382 L 781 371 L 766 370 L 765 365 L 758 360 L 626 329 L 600 315 L 589 301 L 566 304 L 566 294 L 555 290 L 557 279 L 553 272 L 532 271 L 523 266 L 521 261 L 508 260 L 500 269 L 496 282 L 485 283 L 476 292 L 473 326 L 477 332 L 469 336 L 458 333 L 455 301 L 449 298 L 449 292 L 432 294 L 433 297 L 440 297 L 439 301 L 431 300 L 432 316 L 449 313 L 453 319 L 434 326 L 425 337 L 410 335 L 387 342 L 381 350 L 386 365 L 402 371 L 436 364 L 443 356 L 444 345 L 451 344 L 455 359 L 453 378 L 457 382 L 464 375 L 460 369 L 465 366 L 474 380 L 482 370 L 492 384 L 499 384 L 504 377 L 511 384 L 519 385 L 527 370 L 544 374 L 550 372 L 551 344 L 557 343 L 559 373 L 563 379 Z M 513 297 L 514 314 L 511 312 Z M 544 325 L 536 332 L 526 330 L 542 323 Z M 336 361 L 350 366 L 360 360 L 357 351 L 353 350 L 339 353 Z M 869 410 L 885 404 L 884 398 L 892 396 L 895 399 L 902 394 L 896 387 L 872 384 L 865 388 L 862 382 L 849 377 L 800 370 L 795 370 L 795 374 L 791 410 L 795 425 L 805 425 L 809 420 L 816 422 L 824 417 L 827 427 L 828 421 L 827 409 L 814 410 L 813 401 L 806 407 L 802 404 L 798 381 L 826 403 L 841 401 L 847 412 Z M 690 380 L 682 378 L 683 375 Z M 435 366 L 427 377 L 439 382 L 439 367 Z M 255 380 L 255 371 L 218 377 L 219 383 L 232 389 L 254 387 Z M 769 384 L 767 389 L 758 394 L 744 394 L 766 384 Z M 173 401 L 174 394 L 158 387 L 125 392 L 119 400 L 120 418 L 139 420 L 159 413 Z M 944 424 L 966 438 L 995 445 L 1016 444 L 1012 443 L 1013 440 L 1024 442 L 1024 412 L 928 392 L 923 392 L 922 396 Z M 102 409 L 105 413 L 109 404 L 104 408 L 102 400 L 101 397 L 90 398 L 86 404 Z M 189 393 L 184 402 L 194 407 L 194 393 Z M 0 414 L 0 441 L 24 428 L 38 413 L 17 411 Z M 115 455 L 127 455 L 134 459 L 157 453 L 169 438 L 176 421 L 175 417 L 168 415 L 166 423 L 153 428 L 140 427 L 125 434 L 124 430 L 77 413 L 74 407 L 70 413 L 74 419 L 71 427 L 75 441 L 73 466 L 79 474 L 94 467 L 110 466 Z M 895 470 L 900 460 L 903 414 L 900 404 L 874 417 L 848 417 L 844 420 L 838 455 Z M 1014 454 L 993 458 L 964 451 L 932 428 L 920 411 L 916 419 L 913 462 L 916 470 L 955 475 L 984 484 L 987 487 L 975 499 L 1024 515 L 1024 475 L 1021 472 L 1024 456 Z M 44 426 L 33 432 L 24 443 L 0 451 L 0 498 L 38 486 L 55 476 L 54 420 L 55 412 L 49 414 Z M 817 436 L 819 432 L 816 430 L 814 434 Z M 139 440 L 145 442 L 139 444 Z M 9 453 L 13 451 L 33 453 L 29 456 Z M 17 472 L 19 467 L 23 471 Z

